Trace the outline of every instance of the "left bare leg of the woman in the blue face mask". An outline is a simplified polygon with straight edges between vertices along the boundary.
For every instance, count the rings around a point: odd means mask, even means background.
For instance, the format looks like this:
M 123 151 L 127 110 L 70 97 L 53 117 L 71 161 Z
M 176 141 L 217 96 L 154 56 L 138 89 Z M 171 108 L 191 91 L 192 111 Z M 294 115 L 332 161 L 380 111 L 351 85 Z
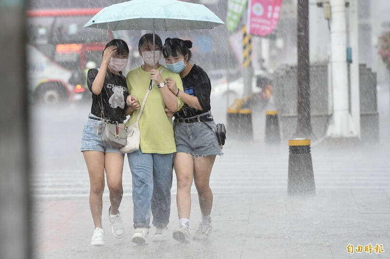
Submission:
M 191 154 L 177 152 L 174 166 L 177 179 L 177 214 L 179 219 L 189 219 L 191 212 L 191 185 L 194 177 L 194 158 Z

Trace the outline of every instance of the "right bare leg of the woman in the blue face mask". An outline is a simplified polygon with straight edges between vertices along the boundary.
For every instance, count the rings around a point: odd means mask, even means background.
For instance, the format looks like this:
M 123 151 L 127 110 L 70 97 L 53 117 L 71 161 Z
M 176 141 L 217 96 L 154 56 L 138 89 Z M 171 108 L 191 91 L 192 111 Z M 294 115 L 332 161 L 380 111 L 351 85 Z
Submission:
M 198 191 L 200 210 L 203 215 L 210 215 L 213 206 L 213 192 L 210 188 L 210 174 L 213 169 L 215 155 L 194 160 L 194 181 Z

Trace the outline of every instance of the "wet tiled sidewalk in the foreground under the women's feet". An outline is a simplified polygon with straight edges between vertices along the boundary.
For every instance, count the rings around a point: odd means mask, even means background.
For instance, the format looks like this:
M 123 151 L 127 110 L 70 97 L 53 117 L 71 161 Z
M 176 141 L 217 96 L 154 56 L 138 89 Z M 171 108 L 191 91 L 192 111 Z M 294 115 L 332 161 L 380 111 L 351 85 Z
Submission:
M 214 230 L 207 241 L 179 244 L 173 239 L 134 246 L 131 242 L 133 208 L 130 199 L 121 205 L 127 235 L 117 240 L 103 204 L 106 245 L 89 245 L 93 223 L 86 199 L 46 201 L 34 209 L 36 258 L 390 258 L 390 190 L 319 190 L 313 198 L 289 198 L 286 192 L 215 195 Z M 170 235 L 178 225 L 175 197 Z M 200 220 L 193 195 L 191 233 Z M 57 215 L 56 217 L 53 217 Z M 356 252 L 352 244 L 383 244 L 380 256 Z

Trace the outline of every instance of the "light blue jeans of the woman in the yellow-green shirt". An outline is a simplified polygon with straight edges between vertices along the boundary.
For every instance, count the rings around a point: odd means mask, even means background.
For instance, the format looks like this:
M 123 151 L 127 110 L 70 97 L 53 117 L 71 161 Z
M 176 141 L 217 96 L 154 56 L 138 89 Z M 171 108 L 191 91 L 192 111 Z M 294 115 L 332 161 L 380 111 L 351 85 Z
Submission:
M 140 149 L 127 154 L 133 177 L 134 227 L 150 227 L 152 207 L 153 225 L 168 225 L 171 213 L 171 187 L 175 153 L 142 153 Z

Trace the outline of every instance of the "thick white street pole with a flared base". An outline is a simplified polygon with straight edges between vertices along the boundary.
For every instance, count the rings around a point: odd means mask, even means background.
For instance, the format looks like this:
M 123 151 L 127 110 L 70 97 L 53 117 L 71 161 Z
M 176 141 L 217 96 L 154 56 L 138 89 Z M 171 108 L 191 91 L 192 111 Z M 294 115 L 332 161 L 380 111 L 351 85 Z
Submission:
M 349 112 L 347 73 L 347 26 L 345 0 L 331 0 L 331 64 L 333 116 L 327 136 L 347 138 L 356 136 Z M 356 52 L 355 52 L 356 53 Z

